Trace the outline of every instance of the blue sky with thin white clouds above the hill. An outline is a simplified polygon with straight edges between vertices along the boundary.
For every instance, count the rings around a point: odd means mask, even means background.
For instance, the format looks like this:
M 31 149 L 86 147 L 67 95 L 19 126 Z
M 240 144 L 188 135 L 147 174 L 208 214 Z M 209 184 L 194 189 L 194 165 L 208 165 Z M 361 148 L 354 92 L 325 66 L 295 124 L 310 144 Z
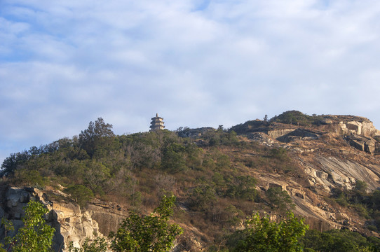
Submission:
M 378 0 L 0 0 L 0 163 L 102 117 L 115 134 L 284 111 L 380 128 Z

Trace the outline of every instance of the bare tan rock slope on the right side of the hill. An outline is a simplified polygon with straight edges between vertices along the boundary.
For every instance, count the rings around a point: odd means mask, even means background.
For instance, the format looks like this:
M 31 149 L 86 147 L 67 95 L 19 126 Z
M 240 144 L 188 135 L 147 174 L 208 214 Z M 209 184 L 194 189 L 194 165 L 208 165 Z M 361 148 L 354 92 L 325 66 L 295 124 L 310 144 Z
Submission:
M 292 197 L 294 213 L 304 216 L 310 228 L 361 230 L 365 219 L 347 209 L 325 201 L 334 190 L 352 190 L 357 181 L 371 192 L 380 187 L 379 130 L 367 118 L 323 116 L 310 127 L 254 121 L 239 125 L 239 130 L 253 141 L 271 148 L 281 147 L 292 153 L 306 180 L 267 172 L 252 172 L 262 190 L 280 186 Z M 258 127 L 255 127 L 255 124 Z M 246 127 L 245 127 L 246 126 Z M 250 127 L 247 127 L 250 126 Z M 306 183 L 305 183 L 306 182 Z M 379 236 L 376 233 L 367 235 Z

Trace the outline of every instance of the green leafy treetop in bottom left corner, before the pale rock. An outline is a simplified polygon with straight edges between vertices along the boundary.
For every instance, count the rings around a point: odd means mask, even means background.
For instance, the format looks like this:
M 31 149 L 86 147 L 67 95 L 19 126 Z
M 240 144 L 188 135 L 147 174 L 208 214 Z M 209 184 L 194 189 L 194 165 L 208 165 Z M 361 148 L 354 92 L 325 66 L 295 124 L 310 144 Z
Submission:
M 39 202 L 29 202 L 25 207 L 24 226 L 15 237 L 6 237 L 8 251 L 12 252 L 50 252 L 55 229 L 45 223 L 43 215 L 48 209 Z

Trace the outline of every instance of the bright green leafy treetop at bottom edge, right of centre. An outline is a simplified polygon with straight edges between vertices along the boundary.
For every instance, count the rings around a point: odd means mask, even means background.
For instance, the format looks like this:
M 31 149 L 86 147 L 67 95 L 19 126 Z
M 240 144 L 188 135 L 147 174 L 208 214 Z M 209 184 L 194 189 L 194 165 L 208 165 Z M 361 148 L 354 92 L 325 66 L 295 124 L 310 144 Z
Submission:
M 245 221 L 245 230 L 237 231 L 234 239 L 237 246 L 232 251 L 241 252 L 296 252 L 302 251 L 299 237 L 305 235 L 308 225 L 303 219 L 288 212 L 287 218 L 280 223 L 270 221 L 269 216 L 254 214 Z M 231 244 L 231 242 L 230 242 Z

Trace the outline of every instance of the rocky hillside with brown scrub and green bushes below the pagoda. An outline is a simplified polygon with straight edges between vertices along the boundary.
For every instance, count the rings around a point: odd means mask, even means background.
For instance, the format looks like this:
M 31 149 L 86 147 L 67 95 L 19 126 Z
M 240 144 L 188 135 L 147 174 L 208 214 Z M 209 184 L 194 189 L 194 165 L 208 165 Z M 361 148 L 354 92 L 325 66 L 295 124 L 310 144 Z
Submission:
M 149 213 L 170 194 L 184 229 L 177 251 L 224 246 L 252 211 L 280 219 L 291 209 L 311 229 L 380 237 L 380 132 L 367 118 L 287 111 L 229 130 L 111 129 L 98 118 L 72 139 L 12 154 L 1 166 L 0 214 L 17 221 L 30 197 L 42 200 L 68 230 L 57 251 L 94 230 L 107 236 L 128 211 Z M 74 197 L 79 185 L 86 197 Z

